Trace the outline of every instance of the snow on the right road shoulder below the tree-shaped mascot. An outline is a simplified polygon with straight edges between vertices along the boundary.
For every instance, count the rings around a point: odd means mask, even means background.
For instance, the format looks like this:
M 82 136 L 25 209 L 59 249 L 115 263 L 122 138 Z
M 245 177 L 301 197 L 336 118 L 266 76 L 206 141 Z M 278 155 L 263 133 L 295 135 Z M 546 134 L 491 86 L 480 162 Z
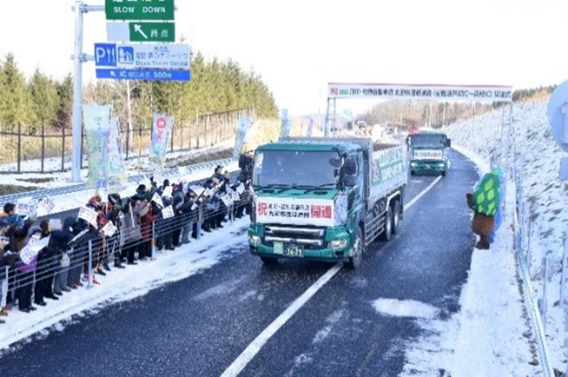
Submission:
M 379 301 L 381 310 L 374 302 L 378 311 L 417 318 L 425 332 L 407 345 L 402 376 L 527 376 L 540 370 L 529 364 L 536 355 L 531 352 L 531 328 L 517 280 L 510 214 L 513 190 L 507 200 L 509 216 L 491 250 L 474 249 L 461 290 L 461 309 L 451 318 L 437 316 L 438 310 L 421 302 Z

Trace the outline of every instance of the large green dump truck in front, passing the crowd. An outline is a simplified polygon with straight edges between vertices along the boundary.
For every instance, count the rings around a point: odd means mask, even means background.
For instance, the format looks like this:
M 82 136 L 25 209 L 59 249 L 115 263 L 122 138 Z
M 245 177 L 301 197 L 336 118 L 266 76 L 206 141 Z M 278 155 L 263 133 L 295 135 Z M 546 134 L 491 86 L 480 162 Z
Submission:
M 403 145 L 370 138 L 284 137 L 256 149 L 248 244 L 279 258 L 359 267 L 377 237 L 390 240 L 404 212 Z

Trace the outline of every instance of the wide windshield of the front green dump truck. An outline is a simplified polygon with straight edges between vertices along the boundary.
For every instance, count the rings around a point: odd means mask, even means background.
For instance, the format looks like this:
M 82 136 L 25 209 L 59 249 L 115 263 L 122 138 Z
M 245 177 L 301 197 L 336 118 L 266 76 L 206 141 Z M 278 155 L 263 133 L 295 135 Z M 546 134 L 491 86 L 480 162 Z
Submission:
M 255 156 L 253 185 L 335 188 L 339 169 L 330 159 L 335 152 L 259 151 Z

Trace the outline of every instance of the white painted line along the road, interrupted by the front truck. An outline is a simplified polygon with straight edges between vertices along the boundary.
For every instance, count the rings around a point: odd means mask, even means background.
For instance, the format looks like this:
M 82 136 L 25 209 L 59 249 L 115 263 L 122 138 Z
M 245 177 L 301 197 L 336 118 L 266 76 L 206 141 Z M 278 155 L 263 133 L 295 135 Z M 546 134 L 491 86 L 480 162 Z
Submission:
M 440 179 L 442 179 L 442 177 L 436 178 L 434 182 L 432 182 L 428 187 L 424 189 L 424 191 L 416 195 L 413 200 L 410 200 L 408 204 L 406 204 L 405 208 L 411 208 L 414 203 L 422 198 L 422 196 L 424 196 L 426 192 L 429 192 L 430 189 L 440 181 Z M 292 304 L 288 306 L 288 309 L 284 310 L 282 314 L 280 314 L 278 318 L 274 319 L 274 321 L 272 321 L 272 323 L 268 327 L 266 327 L 262 333 L 256 336 L 256 339 L 254 341 L 248 344 L 248 347 L 241 352 L 241 355 L 239 355 L 239 357 L 237 357 L 233 361 L 232 365 L 229 365 L 225 372 L 221 374 L 221 377 L 238 376 L 239 373 L 241 373 L 242 370 L 248 365 L 250 360 L 252 360 L 256 356 L 256 354 L 264 347 L 264 344 L 266 344 L 266 342 L 268 342 L 268 340 L 272 338 L 272 336 L 276 334 L 278 330 L 280 330 L 280 327 L 284 326 L 286 322 L 288 322 L 288 319 L 292 318 L 296 314 L 296 311 L 302 309 L 304 304 L 308 302 L 313 295 L 318 293 L 319 289 L 325 286 L 337 272 L 341 271 L 342 268 L 343 263 L 337 263 L 332 268 L 327 270 L 327 272 L 323 274 L 323 276 L 319 278 L 318 281 L 312 284 L 312 287 L 309 287 L 300 297 L 296 298 L 296 301 L 292 302 Z

